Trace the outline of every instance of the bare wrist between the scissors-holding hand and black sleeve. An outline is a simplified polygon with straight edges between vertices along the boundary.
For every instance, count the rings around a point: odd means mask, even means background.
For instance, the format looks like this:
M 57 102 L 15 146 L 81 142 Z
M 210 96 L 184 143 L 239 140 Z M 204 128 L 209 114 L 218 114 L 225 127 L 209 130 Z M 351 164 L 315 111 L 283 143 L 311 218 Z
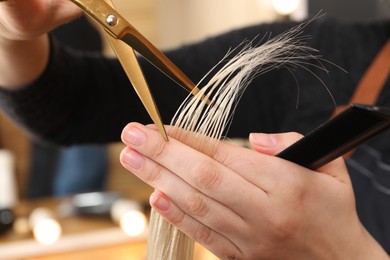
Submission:
M 13 89 L 36 80 L 45 70 L 49 52 L 46 34 L 23 41 L 0 38 L 0 86 Z

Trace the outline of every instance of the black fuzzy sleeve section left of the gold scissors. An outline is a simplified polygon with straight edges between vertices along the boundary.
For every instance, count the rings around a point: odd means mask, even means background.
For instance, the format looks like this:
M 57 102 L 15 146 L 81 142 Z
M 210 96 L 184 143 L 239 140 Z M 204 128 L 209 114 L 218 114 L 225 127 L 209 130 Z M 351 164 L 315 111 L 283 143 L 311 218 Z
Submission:
M 146 121 L 116 60 L 55 40 L 51 50 L 37 81 L 0 94 L 3 110 L 33 138 L 61 145 L 110 142 L 119 140 L 130 118 Z

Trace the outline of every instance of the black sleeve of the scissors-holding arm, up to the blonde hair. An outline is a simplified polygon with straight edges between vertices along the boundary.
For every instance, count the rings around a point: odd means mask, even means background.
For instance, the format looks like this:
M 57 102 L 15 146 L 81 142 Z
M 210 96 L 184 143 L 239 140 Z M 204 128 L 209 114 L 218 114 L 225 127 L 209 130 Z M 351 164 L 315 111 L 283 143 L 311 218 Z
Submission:
M 237 30 L 167 51 L 167 56 L 196 83 L 230 48 L 264 31 L 266 26 Z M 141 63 L 163 121 L 169 123 L 187 92 L 148 62 Z M 0 89 L 0 104 L 34 138 L 61 145 L 119 141 L 128 122 L 151 122 L 116 59 L 55 39 L 44 74 L 23 89 Z

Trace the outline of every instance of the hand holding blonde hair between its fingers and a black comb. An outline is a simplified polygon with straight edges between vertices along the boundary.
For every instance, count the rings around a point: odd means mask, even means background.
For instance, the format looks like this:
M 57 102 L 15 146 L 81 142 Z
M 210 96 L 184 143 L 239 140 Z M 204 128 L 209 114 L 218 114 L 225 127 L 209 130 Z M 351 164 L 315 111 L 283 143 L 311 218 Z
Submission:
M 222 259 L 388 259 L 363 228 L 342 159 L 318 172 L 273 156 L 296 134 L 219 143 L 211 158 L 129 124 L 122 164 L 157 189 L 151 205 Z

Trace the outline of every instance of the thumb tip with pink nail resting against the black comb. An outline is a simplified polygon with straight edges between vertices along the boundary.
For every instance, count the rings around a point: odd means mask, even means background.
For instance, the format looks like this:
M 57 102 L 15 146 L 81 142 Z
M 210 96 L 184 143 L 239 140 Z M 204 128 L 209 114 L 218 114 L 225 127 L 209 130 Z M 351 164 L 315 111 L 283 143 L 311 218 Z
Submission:
M 303 135 L 295 132 L 283 134 L 251 133 L 249 141 L 256 151 L 275 155 L 302 137 Z

